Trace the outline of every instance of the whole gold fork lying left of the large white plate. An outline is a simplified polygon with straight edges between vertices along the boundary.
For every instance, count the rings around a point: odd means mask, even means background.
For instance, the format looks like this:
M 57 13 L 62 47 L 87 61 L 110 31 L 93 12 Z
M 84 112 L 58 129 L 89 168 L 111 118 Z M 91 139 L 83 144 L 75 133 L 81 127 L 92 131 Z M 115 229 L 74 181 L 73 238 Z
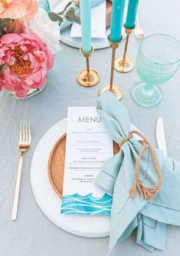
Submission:
M 31 128 L 29 121 L 21 121 L 20 127 L 20 135 L 19 135 L 19 151 L 20 157 L 18 162 L 18 173 L 16 178 L 16 185 L 15 185 L 15 198 L 13 202 L 11 220 L 15 221 L 17 219 L 18 214 L 18 198 L 19 198 L 19 191 L 21 185 L 21 169 L 22 169 L 22 160 L 24 158 L 25 152 L 31 148 Z

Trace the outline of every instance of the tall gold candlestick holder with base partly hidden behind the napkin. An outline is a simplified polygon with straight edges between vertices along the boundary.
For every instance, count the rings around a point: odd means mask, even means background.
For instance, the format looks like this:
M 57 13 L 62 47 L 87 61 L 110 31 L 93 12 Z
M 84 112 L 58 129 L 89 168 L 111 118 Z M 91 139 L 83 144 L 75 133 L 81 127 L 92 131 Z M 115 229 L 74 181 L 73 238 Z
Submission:
M 111 42 L 110 41 L 110 35 L 108 35 L 107 38 L 108 42 L 110 42 L 110 47 L 112 48 L 112 58 L 111 58 L 111 71 L 110 71 L 110 84 L 109 85 L 103 85 L 103 87 L 100 88 L 100 91 L 98 92 L 98 95 L 102 95 L 104 91 L 111 91 L 116 96 L 118 100 L 120 100 L 123 97 L 123 92 L 121 89 L 113 85 L 113 74 L 114 74 L 114 63 L 115 63 L 115 57 L 116 57 L 116 48 L 119 47 L 119 42 Z

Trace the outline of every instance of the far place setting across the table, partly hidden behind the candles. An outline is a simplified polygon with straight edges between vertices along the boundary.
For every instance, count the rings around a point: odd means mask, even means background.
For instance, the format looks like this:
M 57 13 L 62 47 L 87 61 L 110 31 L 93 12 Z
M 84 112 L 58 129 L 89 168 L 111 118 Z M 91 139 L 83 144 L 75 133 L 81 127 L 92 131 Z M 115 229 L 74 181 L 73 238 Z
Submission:
M 95 49 L 108 48 L 110 44 L 107 42 L 106 37 L 110 34 L 110 18 L 112 13 L 112 1 L 111 0 L 93 0 L 91 2 L 91 37 L 93 47 Z M 70 8 L 74 8 L 74 12 L 77 17 L 80 17 L 80 2 L 72 1 L 72 3 L 62 1 L 54 6 L 54 12 L 67 13 Z M 125 16 L 127 8 L 125 7 Z M 123 20 L 123 23 L 125 19 Z M 144 32 L 140 27 L 139 15 L 136 15 L 136 29 L 135 29 L 136 38 L 142 39 L 144 37 Z M 122 29 L 122 38 L 121 41 L 126 38 L 126 31 Z M 66 45 L 70 45 L 74 48 L 81 47 L 81 33 L 80 33 L 80 24 L 79 22 L 72 22 L 70 18 L 65 18 L 64 22 L 61 24 L 61 42 Z

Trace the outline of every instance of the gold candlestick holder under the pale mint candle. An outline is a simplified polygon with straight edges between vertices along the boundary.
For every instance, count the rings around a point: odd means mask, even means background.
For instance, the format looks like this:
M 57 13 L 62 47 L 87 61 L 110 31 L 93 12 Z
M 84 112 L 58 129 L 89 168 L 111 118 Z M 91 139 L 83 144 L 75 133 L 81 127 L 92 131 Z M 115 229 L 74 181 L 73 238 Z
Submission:
M 86 58 L 87 69 L 82 70 L 77 74 L 78 83 L 86 87 L 97 85 L 100 81 L 100 75 L 96 70 L 90 69 L 90 55 L 93 52 L 93 48 L 91 48 L 90 52 L 83 52 L 82 48 L 80 48 L 80 52 L 82 52 L 83 56 Z

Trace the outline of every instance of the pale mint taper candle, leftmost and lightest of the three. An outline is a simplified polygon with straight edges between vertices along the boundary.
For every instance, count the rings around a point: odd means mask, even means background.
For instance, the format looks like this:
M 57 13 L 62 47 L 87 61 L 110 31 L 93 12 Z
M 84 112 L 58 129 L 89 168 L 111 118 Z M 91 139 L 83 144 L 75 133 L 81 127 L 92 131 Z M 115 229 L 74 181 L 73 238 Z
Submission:
M 91 0 L 80 0 L 80 25 L 82 50 L 84 53 L 91 51 Z

